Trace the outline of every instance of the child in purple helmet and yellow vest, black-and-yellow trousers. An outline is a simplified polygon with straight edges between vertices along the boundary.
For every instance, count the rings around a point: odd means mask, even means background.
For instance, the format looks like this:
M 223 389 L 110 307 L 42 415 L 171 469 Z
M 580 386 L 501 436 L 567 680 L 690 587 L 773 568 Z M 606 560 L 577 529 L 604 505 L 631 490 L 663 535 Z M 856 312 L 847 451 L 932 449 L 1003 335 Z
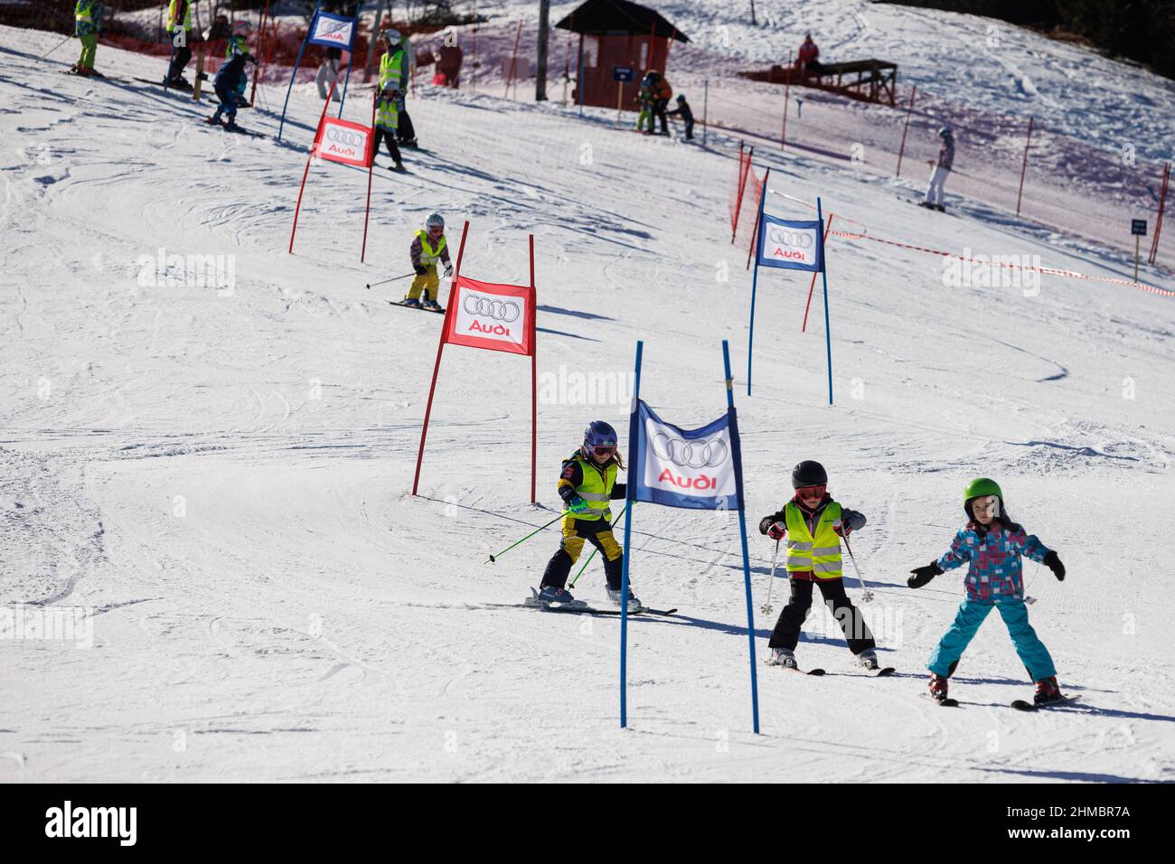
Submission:
M 579 560 L 584 541 L 595 545 L 604 556 L 604 576 L 607 598 L 620 604 L 620 576 L 624 550 L 612 536 L 610 502 L 625 497 L 626 484 L 616 482 L 616 474 L 624 469 L 616 447 L 616 429 L 603 420 L 592 421 L 584 430 L 584 443 L 563 461 L 559 473 L 559 497 L 566 504 L 563 515 L 563 538 L 559 550 L 551 557 L 543 572 L 538 603 L 543 605 L 579 608 L 566 589 L 571 568 Z M 629 611 L 640 609 L 640 601 L 629 590 Z

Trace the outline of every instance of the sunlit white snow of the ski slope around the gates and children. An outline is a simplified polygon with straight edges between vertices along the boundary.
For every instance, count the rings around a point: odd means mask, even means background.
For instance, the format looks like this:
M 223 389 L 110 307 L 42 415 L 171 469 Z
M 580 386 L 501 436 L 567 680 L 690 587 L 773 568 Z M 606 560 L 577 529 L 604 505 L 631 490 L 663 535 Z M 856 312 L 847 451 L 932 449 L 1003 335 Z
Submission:
M 827 9 L 837 51 L 884 47 L 925 18 Z M 692 0 L 663 12 L 723 18 Z M 803 33 L 790 6 L 768 12 Z M 920 43 L 958 51 L 954 27 Z M 733 29 L 756 59 L 778 41 Z M 783 272 L 760 274 L 747 398 L 746 252 L 724 237 L 734 139 L 690 148 L 618 130 L 609 112 L 585 121 L 556 103 L 425 89 L 411 110 L 434 155 L 405 152 L 403 178 L 380 158 L 368 263 L 367 178 L 342 166 L 311 167 L 288 255 L 321 108 L 313 85 L 295 87 L 284 143 L 230 138 L 200 123 L 206 109 L 190 100 L 68 78 L 55 58 L 31 67 L 52 39 L 0 28 L 12 108 L 0 109 L 12 143 L 0 158 L 0 591 L 9 608 L 85 608 L 94 648 L 0 642 L 0 778 L 1175 779 L 1175 549 L 1156 525 L 1175 505 L 1175 301 L 1048 276 L 1039 294 L 948 288 L 933 256 L 838 237 L 837 406 L 820 295 L 800 333 L 807 280 Z M 1074 62 L 1072 46 L 1047 45 L 1046 69 Z M 156 72 L 105 46 L 100 61 L 127 80 Z M 1049 80 L 1019 56 L 1007 69 L 1039 92 Z M 1141 82 L 1140 99 L 1152 87 Z M 352 91 L 360 112 L 368 91 Z M 276 134 L 266 110 L 242 123 Z M 765 159 L 790 194 L 820 194 L 887 236 L 1039 254 L 1095 275 L 1127 267 L 966 202 L 946 219 L 894 205 L 891 183 Z M 422 496 L 407 493 L 439 320 L 388 306 L 404 282 L 363 286 L 404 270 L 431 210 L 448 216 L 454 245 L 471 220 L 463 272 L 476 279 L 525 282 L 536 235 L 540 375 L 564 366 L 626 381 L 644 339 L 642 396 L 697 426 L 724 408 L 720 340 L 731 340 L 764 735 L 750 734 L 733 515 L 637 509 L 636 590 L 680 611 L 630 624 L 626 732 L 618 621 L 489 605 L 521 603 L 537 584 L 555 527 L 484 562 L 553 516 L 553 467 L 586 420 L 623 428 L 626 395 L 540 404 L 545 507 L 531 507 L 525 362 L 451 348 Z M 168 284 L 183 267 L 156 272 L 160 248 L 231 256 L 233 292 Z M 819 604 L 798 654 L 828 675 L 763 662 L 772 547 L 754 525 L 783 503 L 800 458 L 828 466 L 838 500 L 870 517 L 853 549 L 891 678 L 852 674 Z M 1008 708 L 1030 685 L 994 616 L 953 682 L 964 708 L 918 698 L 962 587 L 958 571 L 919 591 L 905 578 L 947 548 L 960 490 L 980 474 L 1000 478 L 1012 514 L 1069 569 L 1058 583 L 1026 564 L 1033 623 L 1062 688 L 1083 696 L 1073 710 Z M 848 582 L 855 595 L 851 565 Z M 773 590 L 778 612 L 786 582 Z M 603 595 L 598 561 L 577 594 Z

